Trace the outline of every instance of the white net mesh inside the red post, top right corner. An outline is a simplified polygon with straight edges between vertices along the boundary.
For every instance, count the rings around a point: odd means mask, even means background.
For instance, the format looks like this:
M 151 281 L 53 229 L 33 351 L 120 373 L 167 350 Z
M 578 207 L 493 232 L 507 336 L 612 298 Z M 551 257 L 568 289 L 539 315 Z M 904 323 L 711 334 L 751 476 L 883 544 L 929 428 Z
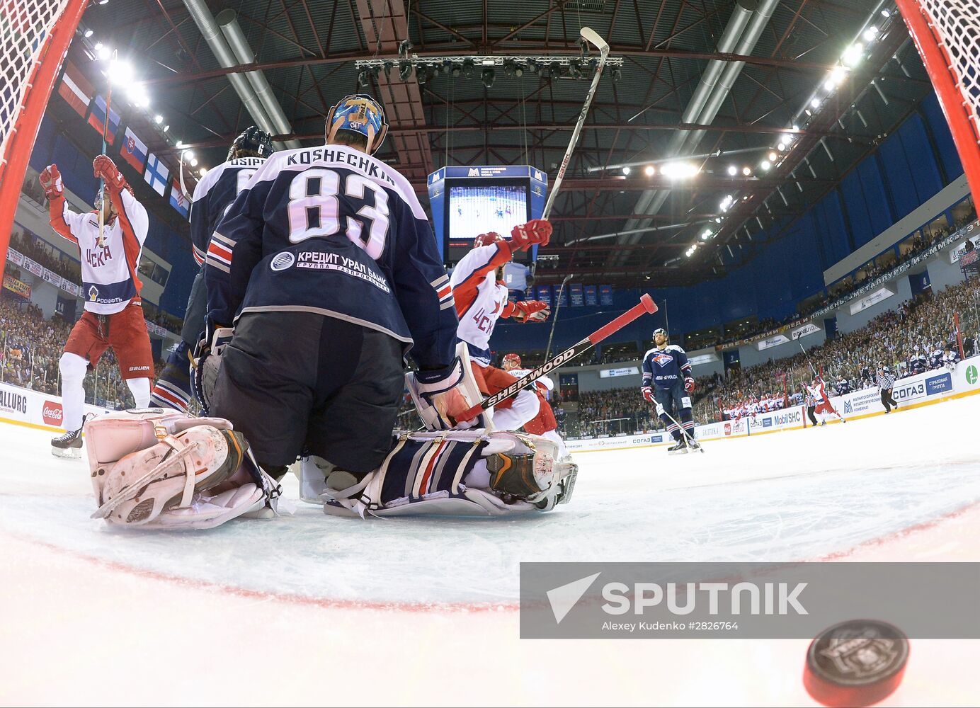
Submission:
M 980 0 L 918 0 L 980 135 Z

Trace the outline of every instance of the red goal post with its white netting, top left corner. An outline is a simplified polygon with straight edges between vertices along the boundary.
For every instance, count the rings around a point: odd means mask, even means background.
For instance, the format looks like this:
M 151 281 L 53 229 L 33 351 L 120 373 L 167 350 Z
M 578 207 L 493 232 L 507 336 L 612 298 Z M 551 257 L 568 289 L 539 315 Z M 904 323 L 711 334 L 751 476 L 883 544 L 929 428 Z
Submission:
M 30 151 L 87 0 L 0 0 L 0 278 Z

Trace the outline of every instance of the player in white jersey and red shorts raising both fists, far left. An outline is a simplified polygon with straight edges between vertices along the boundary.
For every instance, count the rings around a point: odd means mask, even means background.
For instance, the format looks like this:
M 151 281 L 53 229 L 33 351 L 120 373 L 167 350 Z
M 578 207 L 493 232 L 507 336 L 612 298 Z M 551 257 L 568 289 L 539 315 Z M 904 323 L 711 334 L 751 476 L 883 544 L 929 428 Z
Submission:
M 52 228 L 78 246 L 85 298 L 85 311 L 58 362 L 67 431 L 51 441 L 52 452 L 59 456 L 74 456 L 81 448 L 85 372 L 107 349 L 116 353 L 137 408 L 149 405 L 153 380 L 153 353 L 139 299 L 142 283 L 136 276 L 150 220 L 112 160 L 100 155 L 92 165 L 95 176 L 105 180 L 109 196 L 96 200 L 96 212 L 68 208 L 58 165 L 40 174 Z M 101 238 L 98 211 L 104 221 Z

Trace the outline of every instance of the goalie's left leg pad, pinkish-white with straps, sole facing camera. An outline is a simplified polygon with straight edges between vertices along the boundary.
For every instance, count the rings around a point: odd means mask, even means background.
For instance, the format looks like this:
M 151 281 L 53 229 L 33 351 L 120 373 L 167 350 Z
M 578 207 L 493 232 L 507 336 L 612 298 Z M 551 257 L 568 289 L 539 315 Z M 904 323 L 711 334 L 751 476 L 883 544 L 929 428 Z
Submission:
M 274 515 L 275 483 L 222 418 L 129 410 L 89 421 L 85 435 L 99 504 L 92 518 L 141 528 L 210 529 L 245 514 Z

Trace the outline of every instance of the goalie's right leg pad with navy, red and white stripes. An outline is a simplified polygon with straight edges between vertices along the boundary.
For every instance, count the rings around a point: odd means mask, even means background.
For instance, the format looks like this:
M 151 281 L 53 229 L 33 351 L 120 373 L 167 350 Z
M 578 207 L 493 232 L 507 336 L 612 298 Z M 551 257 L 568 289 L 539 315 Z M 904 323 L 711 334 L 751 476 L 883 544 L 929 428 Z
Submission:
M 578 468 L 550 440 L 510 431 L 410 433 L 356 476 L 318 458 L 300 471 L 304 501 L 338 516 L 506 516 L 567 503 Z

